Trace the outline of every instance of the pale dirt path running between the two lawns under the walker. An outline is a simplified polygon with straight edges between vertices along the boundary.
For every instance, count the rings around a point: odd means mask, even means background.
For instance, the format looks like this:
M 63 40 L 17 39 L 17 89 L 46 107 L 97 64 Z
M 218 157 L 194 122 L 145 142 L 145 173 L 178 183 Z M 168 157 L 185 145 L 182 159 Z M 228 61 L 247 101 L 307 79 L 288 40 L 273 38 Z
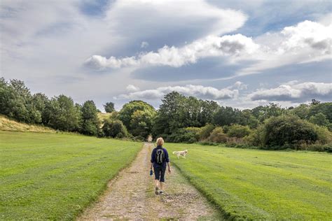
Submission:
M 153 177 L 148 176 L 152 148 L 146 143 L 132 165 L 78 220 L 220 220 L 219 212 L 174 167 L 165 176 L 165 195 L 155 196 Z

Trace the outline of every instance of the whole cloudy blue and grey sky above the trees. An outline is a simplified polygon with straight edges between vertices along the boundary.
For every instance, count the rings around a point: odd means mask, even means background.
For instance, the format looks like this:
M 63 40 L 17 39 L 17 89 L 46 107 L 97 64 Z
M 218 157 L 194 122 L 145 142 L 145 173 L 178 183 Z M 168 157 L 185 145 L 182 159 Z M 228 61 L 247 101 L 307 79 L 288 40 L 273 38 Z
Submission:
M 1 0 L 0 77 L 97 108 L 332 101 L 329 1 Z

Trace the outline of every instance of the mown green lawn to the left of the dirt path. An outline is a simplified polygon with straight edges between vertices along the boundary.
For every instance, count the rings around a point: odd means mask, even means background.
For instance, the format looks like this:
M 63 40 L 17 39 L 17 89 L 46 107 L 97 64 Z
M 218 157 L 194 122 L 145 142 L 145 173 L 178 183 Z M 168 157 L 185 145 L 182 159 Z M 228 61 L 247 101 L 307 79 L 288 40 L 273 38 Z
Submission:
M 0 220 L 73 220 L 141 143 L 0 131 Z

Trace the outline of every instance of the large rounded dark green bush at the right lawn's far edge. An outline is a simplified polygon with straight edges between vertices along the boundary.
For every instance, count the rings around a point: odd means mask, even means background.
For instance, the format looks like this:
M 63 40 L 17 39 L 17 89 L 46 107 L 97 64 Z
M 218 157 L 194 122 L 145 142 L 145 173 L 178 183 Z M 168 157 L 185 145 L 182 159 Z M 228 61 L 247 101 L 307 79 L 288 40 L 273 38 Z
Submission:
M 314 124 L 295 115 L 270 117 L 263 129 L 263 145 L 268 148 L 297 148 L 301 143 L 314 143 L 319 138 Z

